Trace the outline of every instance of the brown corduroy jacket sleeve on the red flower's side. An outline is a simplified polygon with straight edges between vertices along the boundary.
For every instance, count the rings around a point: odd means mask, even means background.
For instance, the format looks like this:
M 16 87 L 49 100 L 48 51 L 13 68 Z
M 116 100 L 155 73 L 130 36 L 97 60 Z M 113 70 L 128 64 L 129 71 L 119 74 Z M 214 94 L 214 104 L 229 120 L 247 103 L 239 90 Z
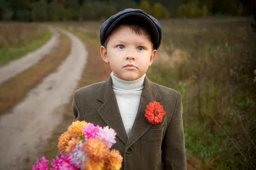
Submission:
M 164 170 L 186 170 L 185 139 L 182 119 L 183 106 L 178 92 L 175 109 L 162 143 Z

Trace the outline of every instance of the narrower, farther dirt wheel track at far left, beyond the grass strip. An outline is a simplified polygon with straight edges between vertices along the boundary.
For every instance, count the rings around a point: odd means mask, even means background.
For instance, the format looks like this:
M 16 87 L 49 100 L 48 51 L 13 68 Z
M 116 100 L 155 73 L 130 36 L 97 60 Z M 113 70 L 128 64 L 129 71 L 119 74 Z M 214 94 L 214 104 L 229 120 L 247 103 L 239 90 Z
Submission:
M 52 37 L 47 41 L 47 43 L 42 45 L 36 51 L 30 52 L 27 55 L 0 67 L 0 84 L 38 63 L 38 61 L 40 61 L 45 55 L 58 46 L 58 32 L 52 28 L 49 28 L 49 30 L 52 32 Z

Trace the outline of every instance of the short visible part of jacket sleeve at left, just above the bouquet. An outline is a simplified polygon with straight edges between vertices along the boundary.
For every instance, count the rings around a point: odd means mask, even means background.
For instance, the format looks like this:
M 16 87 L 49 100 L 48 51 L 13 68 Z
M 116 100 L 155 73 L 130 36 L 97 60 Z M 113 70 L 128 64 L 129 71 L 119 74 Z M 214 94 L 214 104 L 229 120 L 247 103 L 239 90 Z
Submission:
M 72 110 L 73 113 L 75 115 L 76 121 L 83 121 L 84 120 L 84 116 L 83 116 L 83 112 L 81 109 L 81 104 L 79 101 L 79 95 L 78 95 L 78 91 L 76 90 L 74 92 L 74 98 L 73 98 L 73 102 L 72 102 Z

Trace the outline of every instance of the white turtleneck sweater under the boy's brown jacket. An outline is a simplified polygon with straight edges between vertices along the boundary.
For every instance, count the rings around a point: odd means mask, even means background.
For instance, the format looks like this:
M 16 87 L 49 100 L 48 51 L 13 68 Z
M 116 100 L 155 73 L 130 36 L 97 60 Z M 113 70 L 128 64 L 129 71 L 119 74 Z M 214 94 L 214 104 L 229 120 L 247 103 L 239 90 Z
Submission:
M 130 135 L 132 125 L 134 124 L 138 112 L 145 76 L 146 74 L 136 80 L 122 80 L 111 72 L 112 87 L 116 95 L 116 101 L 127 137 Z

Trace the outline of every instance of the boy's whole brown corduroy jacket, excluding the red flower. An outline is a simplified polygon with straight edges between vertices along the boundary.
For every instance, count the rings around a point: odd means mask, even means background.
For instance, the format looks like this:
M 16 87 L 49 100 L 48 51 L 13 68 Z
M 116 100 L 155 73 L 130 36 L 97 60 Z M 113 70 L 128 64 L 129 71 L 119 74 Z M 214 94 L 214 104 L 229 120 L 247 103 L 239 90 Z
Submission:
M 151 124 L 145 117 L 149 102 L 163 105 L 166 115 L 159 124 Z M 186 170 L 186 155 L 182 119 L 181 95 L 174 89 L 152 83 L 147 77 L 137 116 L 129 138 L 112 89 L 111 77 L 74 93 L 73 113 L 76 120 L 94 125 L 109 126 L 116 135 L 111 149 L 123 156 L 122 170 Z

